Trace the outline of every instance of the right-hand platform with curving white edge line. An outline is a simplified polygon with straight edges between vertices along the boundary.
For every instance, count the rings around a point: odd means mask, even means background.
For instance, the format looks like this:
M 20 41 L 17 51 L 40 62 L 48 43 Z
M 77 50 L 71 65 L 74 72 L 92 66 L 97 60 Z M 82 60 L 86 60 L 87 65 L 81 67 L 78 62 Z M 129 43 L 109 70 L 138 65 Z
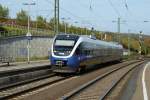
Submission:
M 121 100 L 150 100 L 150 61 L 133 72 Z

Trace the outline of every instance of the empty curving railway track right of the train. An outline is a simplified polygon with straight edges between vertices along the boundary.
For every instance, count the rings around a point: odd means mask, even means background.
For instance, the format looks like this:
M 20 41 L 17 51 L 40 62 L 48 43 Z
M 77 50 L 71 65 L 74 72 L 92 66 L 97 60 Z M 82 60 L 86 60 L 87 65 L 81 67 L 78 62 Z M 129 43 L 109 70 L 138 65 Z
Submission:
M 126 66 L 113 69 L 83 84 L 75 90 L 67 93 L 61 100 L 103 100 L 113 88 L 134 68 L 143 64 L 144 61 L 130 63 Z M 107 80 L 107 81 L 106 81 Z M 108 81 L 109 80 L 109 81 Z M 109 84 L 107 84 L 109 83 Z M 106 88 L 107 87 L 107 88 Z M 99 92 L 101 91 L 101 92 Z

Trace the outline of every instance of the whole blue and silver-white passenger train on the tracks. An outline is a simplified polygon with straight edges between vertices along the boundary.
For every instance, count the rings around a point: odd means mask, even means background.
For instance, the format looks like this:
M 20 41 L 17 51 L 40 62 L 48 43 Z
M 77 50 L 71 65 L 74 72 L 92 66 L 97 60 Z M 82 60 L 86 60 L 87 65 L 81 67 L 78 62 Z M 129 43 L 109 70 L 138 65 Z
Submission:
M 51 47 L 53 72 L 80 72 L 90 65 L 120 61 L 123 47 L 90 36 L 56 35 Z

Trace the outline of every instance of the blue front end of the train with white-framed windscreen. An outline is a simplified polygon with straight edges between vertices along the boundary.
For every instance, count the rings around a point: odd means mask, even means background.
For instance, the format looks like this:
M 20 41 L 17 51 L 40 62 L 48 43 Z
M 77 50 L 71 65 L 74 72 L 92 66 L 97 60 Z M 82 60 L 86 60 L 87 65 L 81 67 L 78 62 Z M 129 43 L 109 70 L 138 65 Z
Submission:
M 72 73 L 79 66 L 78 56 L 75 54 L 77 35 L 57 35 L 53 41 L 50 61 L 53 72 Z

